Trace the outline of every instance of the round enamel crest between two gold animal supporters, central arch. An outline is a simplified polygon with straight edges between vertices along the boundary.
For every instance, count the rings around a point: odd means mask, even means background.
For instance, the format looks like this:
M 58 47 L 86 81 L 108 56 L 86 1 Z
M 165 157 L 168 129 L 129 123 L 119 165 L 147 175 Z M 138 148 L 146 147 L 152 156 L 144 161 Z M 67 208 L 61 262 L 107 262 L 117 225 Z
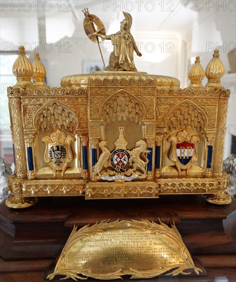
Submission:
M 119 172 L 123 172 L 129 166 L 130 154 L 124 149 L 115 150 L 111 154 L 111 165 Z

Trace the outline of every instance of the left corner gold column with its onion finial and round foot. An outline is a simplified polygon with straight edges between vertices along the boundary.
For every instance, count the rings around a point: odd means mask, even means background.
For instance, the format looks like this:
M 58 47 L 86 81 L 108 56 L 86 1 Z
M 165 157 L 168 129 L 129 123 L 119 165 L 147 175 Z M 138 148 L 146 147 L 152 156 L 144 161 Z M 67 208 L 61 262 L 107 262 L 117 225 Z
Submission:
M 12 140 L 14 144 L 16 177 L 13 176 L 10 178 L 9 190 L 13 196 L 10 196 L 6 200 L 6 205 L 10 208 L 26 208 L 34 205 L 37 199 L 21 197 L 22 185 L 27 177 L 27 156 L 21 95 L 24 91 L 23 87 L 32 87 L 31 76 L 33 75 L 33 67 L 26 57 L 25 48 L 23 46 L 19 47 L 19 55 L 15 60 L 12 72 L 16 76 L 17 82 L 13 87 L 13 91 L 8 93 L 8 99 Z

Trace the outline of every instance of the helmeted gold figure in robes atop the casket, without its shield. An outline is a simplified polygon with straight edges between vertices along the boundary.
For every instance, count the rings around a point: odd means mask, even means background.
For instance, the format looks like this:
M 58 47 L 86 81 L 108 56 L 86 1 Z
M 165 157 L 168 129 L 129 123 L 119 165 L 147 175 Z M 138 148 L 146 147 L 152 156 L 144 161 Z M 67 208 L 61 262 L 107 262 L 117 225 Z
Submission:
M 111 40 L 114 50 L 110 54 L 109 65 L 106 70 L 112 71 L 137 71 L 133 62 L 133 50 L 138 56 L 142 56 L 130 33 L 132 17 L 129 13 L 123 12 L 125 19 L 121 22 L 121 30 L 111 35 L 95 33 L 95 35 Z

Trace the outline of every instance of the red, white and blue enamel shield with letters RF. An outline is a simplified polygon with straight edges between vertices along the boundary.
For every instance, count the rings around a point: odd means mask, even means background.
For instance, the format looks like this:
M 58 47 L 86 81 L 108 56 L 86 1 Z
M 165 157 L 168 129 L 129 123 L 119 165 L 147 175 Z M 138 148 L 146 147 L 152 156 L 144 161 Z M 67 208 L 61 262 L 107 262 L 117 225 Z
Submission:
M 179 161 L 184 166 L 187 165 L 192 158 L 194 152 L 194 143 L 184 140 L 181 143 L 176 143 L 176 154 Z

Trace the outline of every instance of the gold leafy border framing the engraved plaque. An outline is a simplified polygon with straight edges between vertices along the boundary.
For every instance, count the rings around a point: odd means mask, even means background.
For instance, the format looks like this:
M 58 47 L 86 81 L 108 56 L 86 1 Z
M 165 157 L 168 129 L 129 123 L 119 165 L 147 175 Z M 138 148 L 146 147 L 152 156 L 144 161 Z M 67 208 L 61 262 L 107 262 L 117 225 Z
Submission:
M 80 241 L 81 239 L 85 237 L 91 237 L 91 235 L 95 235 L 97 233 L 104 233 L 106 231 L 113 230 L 119 230 L 124 229 L 127 227 L 131 227 L 136 230 L 140 231 L 149 231 L 156 236 L 159 234 L 165 234 L 165 237 L 168 238 L 171 241 L 174 241 L 176 245 L 178 245 L 181 248 L 181 256 L 184 261 L 184 265 L 175 265 L 175 266 L 161 266 L 161 269 L 157 270 L 149 270 L 149 271 L 139 271 L 137 269 L 131 269 L 129 273 L 123 272 L 122 269 L 117 270 L 116 272 L 112 273 L 93 273 L 90 269 L 86 270 L 76 270 L 76 269 L 67 269 L 67 260 L 65 259 L 66 253 L 68 250 L 70 250 L 75 243 Z M 199 274 L 199 272 L 202 272 L 200 268 L 196 268 L 194 266 L 193 260 L 190 256 L 190 253 L 188 249 L 186 248 L 183 239 L 181 237 L 181 234 L 179 233 L 178 229 L 175 227 L 174 223 L 171 224 L 171 227 L 168 227 L 166 224 L 162 223 L 160 220 L 160 223 L 154 223 L 154 221 L 150 222 L 147 219 L 142 220 L 123 220 L 123 221 L 114 221 L 111 223 L 108 223 L 108 221 L 104 220 L 101 221 L 101 223 L 96 223 L 93 226 L 86 225 L 80 230 L 77 230 L 77 226 L 74 226 L 70 237 L 67 240 L 67 243 L 65 247 L 63 248 L 62 254 L 60 258 L 57 261 L 55 270 L 52 274 L 49 274 L 47 278 L 49 280 L 52 280 L 55 275 L 64 275 L 65 277 L 63 279 L 72 278 L 74 280 L 77 279 L 86 279 L 80 275 L 84 275 L 87 277 L 92 277 L 96 279 L 102 279 L 102 280 L 110 280 L 110 279 L 119 279 L 122 278 L 122 275 L 125 274 L 131 274 L 131 278 L 152 278 L 155 276 L 159 276 L 161 274 L 165 274 L 168 272 L 167 275 L 178 275 L 178 274 L 191 274 L 191 272 L 186 272 L 187 270 L 192 269 L 196 274 Z

